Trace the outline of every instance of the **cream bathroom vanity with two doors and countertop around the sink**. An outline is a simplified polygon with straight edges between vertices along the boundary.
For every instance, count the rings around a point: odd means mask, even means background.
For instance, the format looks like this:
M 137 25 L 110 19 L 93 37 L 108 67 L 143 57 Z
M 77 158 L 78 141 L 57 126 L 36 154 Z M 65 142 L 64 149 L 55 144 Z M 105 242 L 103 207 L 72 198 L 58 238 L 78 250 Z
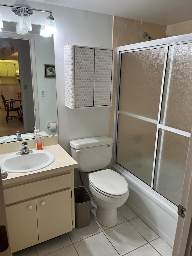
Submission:
M 19 151 L 22 142 L 1 144 L 1 153 L 6 153 L 0 158 Z M 27 142 L 29 149 L 35 149 L 35 139 Z M 55 155 L 52 164 L 32 172 L 8 173 L 2 180 L 12 252 L 67 233 L 75 227 L 74 168 L 78 164 L 58 145 L 57 136 L 44 138 L 44 150 Z

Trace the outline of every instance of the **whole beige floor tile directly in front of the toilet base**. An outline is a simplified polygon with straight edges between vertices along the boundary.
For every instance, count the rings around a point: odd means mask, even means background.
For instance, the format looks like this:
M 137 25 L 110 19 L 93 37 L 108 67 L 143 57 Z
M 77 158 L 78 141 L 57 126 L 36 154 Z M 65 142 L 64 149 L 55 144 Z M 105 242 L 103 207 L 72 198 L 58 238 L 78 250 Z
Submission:
M 105 230 L 104 234 L 120 255 L 124 255 L 147 243 L 128 221 Z

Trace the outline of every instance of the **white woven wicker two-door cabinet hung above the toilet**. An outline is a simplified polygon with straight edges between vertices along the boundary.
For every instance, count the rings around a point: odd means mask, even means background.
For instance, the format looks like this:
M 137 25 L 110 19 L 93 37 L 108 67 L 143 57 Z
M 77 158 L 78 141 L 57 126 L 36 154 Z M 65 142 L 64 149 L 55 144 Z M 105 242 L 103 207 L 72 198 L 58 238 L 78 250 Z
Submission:
M 64 46 L 65 106 L 111 106 L 113 63 L 113 49 Z

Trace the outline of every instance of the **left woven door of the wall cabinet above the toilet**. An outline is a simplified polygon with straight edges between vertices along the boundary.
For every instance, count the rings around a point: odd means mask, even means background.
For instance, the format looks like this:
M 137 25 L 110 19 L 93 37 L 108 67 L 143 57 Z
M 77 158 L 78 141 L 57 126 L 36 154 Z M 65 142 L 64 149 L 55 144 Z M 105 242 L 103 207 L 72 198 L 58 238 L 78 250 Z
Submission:
M 75 107 L 93 106 L 95 50 L 75 47 Z

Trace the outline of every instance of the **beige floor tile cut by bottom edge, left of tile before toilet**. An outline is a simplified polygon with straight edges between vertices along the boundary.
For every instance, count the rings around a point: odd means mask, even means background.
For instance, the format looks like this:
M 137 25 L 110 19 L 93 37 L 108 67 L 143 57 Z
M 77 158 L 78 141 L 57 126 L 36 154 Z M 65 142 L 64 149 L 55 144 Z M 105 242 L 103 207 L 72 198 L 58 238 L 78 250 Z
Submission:
M 79 256 L 118 256 L 119 254 L 103 233 L 90 236 L 74 244 Z

